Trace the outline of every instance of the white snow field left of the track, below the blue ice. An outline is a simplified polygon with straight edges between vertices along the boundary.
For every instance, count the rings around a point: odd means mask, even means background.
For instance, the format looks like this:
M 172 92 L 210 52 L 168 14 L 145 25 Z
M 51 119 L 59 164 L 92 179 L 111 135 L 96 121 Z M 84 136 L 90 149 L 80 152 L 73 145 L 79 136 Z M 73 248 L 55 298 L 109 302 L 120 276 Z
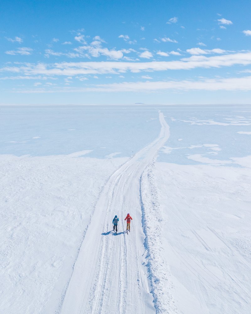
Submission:
M 59 303 L 96 198 L 126 160 L 0 155 L 2 313 Z

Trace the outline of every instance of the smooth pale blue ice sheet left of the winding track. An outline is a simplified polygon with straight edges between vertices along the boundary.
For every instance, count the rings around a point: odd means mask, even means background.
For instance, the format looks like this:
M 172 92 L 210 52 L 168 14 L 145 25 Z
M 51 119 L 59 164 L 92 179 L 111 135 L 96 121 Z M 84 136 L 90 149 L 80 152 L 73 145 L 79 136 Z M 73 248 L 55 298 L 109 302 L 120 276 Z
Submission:
M 158 136 L 158 110 L 136 106 L 2 106 L 0 154 L 47 156 L 92 150 L 130 157 Z

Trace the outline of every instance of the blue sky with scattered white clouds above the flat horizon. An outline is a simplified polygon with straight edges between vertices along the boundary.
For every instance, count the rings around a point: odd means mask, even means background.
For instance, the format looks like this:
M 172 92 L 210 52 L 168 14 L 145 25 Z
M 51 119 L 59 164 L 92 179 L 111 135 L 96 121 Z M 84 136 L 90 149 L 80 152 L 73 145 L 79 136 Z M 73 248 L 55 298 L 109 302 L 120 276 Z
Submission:
M 0 104 L 250 103 L 250 1 L 5 1 Z

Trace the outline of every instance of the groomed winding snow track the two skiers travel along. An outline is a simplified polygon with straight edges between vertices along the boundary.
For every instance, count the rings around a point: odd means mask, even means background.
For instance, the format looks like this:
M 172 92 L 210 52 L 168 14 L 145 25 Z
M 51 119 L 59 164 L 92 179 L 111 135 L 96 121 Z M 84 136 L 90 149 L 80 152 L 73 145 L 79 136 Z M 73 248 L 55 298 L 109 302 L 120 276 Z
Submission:
M 142 267 L 145 236 L 139 182 L 169 138 L 169 126 L 160 111 L 159 121 L 158 138 L 115 171 L 104 186 L 79 249 L 61 314 L 155 313 Z M 127 235 L 123 225 L 128 212 L 133 221 Z M 115 214 L 120 219 L 117 235 L 111 231 Z

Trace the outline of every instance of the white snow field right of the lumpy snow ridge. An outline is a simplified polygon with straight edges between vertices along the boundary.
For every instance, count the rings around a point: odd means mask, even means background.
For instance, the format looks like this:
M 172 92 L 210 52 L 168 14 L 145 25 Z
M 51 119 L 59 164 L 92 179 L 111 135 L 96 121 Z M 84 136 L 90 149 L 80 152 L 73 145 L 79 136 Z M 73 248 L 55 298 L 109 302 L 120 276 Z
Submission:
M 251 169 L 155 166 L 164 260 L 179 313 L 250 313 Z

